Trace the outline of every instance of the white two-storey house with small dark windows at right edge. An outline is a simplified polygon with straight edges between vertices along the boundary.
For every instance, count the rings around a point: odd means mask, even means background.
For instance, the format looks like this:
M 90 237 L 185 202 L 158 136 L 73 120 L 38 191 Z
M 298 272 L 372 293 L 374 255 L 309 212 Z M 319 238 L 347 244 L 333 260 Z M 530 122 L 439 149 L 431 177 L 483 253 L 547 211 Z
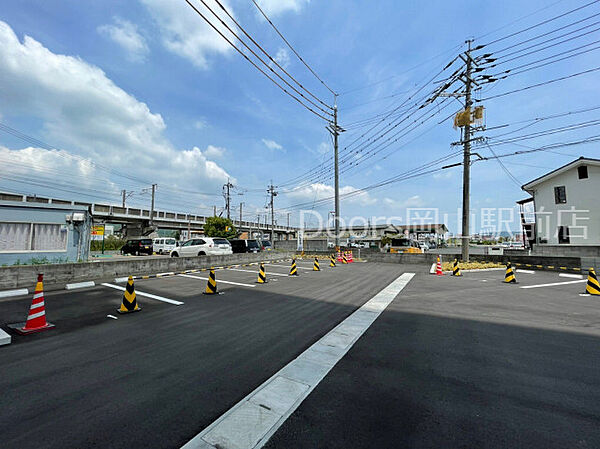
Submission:
M 600 159 L 580 157 L 522 188 L 531 195 L 517 202 L 530 246 L 600 246 Z

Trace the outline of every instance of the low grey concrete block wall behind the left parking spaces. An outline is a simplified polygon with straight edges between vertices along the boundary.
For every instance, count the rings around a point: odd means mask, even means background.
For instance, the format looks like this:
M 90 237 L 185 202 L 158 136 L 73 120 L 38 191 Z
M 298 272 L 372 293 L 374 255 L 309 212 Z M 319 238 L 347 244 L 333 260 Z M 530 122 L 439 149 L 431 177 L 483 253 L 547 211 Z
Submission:
M 0 267 L 0 290 L 35 287 L 37 275 L 44 274 L 44 288 L 55 290 L 65 284 L 83 281 L 113 282 L 117 277 L 139 276 L 166 272 L 179 272 L 211 266 L 235 265 L 292 257 L 291 252 L 269 251 L 262 253 L 232 254 L 228 256 L 200 257 L 131 257 L 125 260 L 27 265 Z

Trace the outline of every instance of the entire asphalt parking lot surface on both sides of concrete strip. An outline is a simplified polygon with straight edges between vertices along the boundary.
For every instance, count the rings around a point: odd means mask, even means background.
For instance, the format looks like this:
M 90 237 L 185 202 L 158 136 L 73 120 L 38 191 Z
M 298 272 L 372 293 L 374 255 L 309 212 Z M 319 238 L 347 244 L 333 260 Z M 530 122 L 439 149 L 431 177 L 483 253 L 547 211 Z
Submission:
M 600 447 L 600 302 L 583 279 L 298 265 L 267 264 L 266 285 L 255 265 L 218 270 L 213 296 L 207 272 L 136 281 L 128 315 L 112 286 L 47 293 L 56 328 L 0 348 L 0 447 L 181 447 L 407 272 L 267 447 Z M 30 302 L 1 300 L 0 325 Z

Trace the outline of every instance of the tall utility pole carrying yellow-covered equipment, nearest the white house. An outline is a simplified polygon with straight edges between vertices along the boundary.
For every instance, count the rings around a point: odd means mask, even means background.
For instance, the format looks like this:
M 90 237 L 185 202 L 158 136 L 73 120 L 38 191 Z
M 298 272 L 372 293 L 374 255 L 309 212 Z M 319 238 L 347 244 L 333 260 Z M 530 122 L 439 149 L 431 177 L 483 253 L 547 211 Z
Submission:
M 466 79 L 465 79 L 465 111 L 469 110 L 473 104 L 471 101 L 471 42 L 472 39 L 467 40 L 469 48 L 467 49 L 466 56 Z M 462 211 L 462 239 L 461 239 L 461 250 L 462 260 L 464 262 L 469 261 L 469 241 L 470 239 L 470 202 L 471 202 L 471 119 L 469 118 L 465 124 L 464 135 L 463 135 L 463 211 Z

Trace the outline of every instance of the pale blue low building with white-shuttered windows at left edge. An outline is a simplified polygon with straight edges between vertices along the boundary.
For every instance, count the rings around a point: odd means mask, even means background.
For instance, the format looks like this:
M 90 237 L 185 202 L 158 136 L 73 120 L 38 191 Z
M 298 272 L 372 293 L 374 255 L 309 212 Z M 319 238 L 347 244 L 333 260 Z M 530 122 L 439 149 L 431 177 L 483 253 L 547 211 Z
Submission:
M 56 201 L 0 192 L 0 265 L 88 260 L 88 207 Z

